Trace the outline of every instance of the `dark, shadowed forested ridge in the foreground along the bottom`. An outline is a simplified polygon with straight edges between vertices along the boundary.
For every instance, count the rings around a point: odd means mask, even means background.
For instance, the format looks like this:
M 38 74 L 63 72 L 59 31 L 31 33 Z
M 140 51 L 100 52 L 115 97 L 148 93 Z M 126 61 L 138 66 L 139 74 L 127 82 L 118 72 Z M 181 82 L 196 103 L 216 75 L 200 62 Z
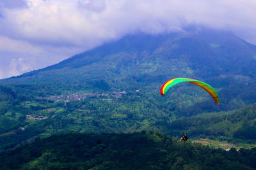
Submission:
M 229 152 L 159 132 L 61 134 L 0 154 L 1 169 L 255 169 L 256 149 Z M 250 158 L 250 159 L 248 159 Z

